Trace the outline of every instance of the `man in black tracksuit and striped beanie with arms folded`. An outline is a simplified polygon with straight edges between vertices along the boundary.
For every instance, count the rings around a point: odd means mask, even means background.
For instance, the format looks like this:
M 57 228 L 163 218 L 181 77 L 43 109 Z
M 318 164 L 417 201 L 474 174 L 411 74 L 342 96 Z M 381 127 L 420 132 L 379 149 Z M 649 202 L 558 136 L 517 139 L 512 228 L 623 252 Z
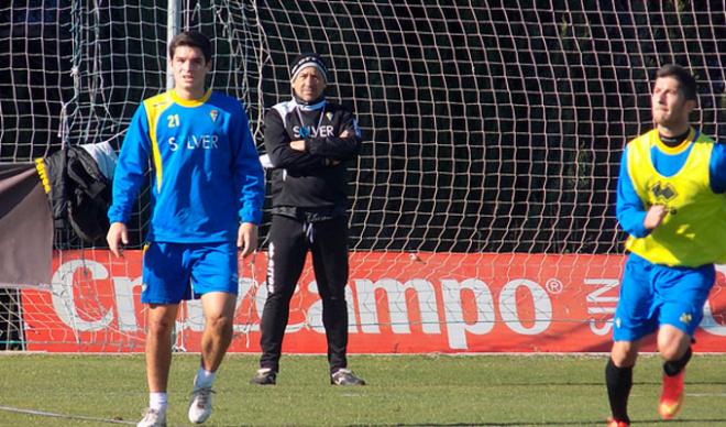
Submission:
M 293 99 L 265 116 L 265 149 L 273 167 L 267 300 L 262 314 L 261 369 L 255 384 L 275 384 L 289 303 L 308 251 L 312 253 L 322 322 L 328 340 L 330 381 L 363 385 L 348 370 L 346 161 L 358 156 L 361 132 L 353 114 L 328 102 L 328 70 L 317 54 L 293 63 Z

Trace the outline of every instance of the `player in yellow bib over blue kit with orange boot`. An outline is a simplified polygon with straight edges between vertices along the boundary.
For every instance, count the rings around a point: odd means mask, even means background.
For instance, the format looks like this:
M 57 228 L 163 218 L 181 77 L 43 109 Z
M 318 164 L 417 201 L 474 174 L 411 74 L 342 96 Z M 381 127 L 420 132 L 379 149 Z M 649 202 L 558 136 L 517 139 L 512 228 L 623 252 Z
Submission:
M 632 366 L 641 340 L 653 332 L 664 360 L 658 412 L 670 419 L 681 409 L 684 368 L 714 264 L 726 263 L 726 146 L 691 125 L 696 92 L 685 68 L 661 67 L 651 97 L 656 129 L 623 153 L 616 211 L 630 254 L 605 369 L 608 426 L 630 424 Z

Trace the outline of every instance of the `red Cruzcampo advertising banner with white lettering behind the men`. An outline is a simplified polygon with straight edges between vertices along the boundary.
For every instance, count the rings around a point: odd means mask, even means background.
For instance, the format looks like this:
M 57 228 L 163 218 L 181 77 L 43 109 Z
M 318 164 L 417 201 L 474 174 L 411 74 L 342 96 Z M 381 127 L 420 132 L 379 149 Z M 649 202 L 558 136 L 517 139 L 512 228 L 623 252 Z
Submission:
M 258 352 L 266 298 L 265 256 L 240 266 L 232 352 Z M 600 352 L 625 262 L 619 255 L 380 253 L 351 254 L 349 351 Z M 144 307 L 141 252 L 54 256 L 50 292 L 22 293 L 29 350 L 141 352 Z M 696 351 L 726 351 L 726 266 L 705 305 Z M 199 351 L 199 302 L 183 304 L 176 347 Z M 326 353 L 322 304 L 306 267 L 290 305 L 284 351 Z M 654 350 L 652 342 L 645 350 Z

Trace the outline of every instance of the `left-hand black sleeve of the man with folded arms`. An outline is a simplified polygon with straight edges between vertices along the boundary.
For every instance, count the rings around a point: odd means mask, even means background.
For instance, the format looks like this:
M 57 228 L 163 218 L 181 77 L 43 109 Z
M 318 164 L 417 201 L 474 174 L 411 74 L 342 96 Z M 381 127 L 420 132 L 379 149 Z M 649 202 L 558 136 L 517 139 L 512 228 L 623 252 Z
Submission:
M 268 110 L 265 114 L 265 150 L 276 168 L 306 173 L 326 165 L 324 157 L 290 147 L 290 139 L 285 130 L 283 118 L 275 109 Z

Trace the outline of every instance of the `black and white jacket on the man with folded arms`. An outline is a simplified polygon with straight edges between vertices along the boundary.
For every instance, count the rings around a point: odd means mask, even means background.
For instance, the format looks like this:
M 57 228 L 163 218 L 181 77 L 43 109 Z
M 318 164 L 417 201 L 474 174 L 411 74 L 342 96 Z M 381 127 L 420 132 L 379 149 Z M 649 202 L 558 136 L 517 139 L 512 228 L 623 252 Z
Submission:
M 293 150 L 290 141 L 301 139 L 305 152 Z M 265 149 L 274 166 L 273 214 L 324 220 L 345 212 L 346 162 L 361 151 L 361 131 L 348 109 L 328 101 L 277 103 L 265 114 Z

